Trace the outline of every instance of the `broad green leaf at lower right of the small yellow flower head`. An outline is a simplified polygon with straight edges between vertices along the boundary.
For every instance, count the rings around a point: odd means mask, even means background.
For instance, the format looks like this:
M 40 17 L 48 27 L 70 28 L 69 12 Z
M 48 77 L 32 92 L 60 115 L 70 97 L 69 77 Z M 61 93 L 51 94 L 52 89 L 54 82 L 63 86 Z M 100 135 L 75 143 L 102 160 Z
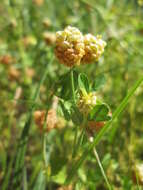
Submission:
M 89 114 L 89 120 L 95 121 L 108 121 L 111 117 L 108 115 L 109 107 L 107 104 L 102 103 L 94 106 Z

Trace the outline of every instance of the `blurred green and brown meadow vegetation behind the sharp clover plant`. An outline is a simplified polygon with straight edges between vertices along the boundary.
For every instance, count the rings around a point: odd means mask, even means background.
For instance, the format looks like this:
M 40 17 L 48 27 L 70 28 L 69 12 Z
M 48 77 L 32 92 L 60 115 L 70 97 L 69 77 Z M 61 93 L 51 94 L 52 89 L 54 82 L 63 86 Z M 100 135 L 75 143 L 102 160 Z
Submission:
M 77 70 L 86 73 L 90 81 L 100 74 L 105 75 L 106 84 L 98 95 L 110 105 L 112 112 L 143 75 L 141 1 L 1 0 L 0 189 L 108 189 L 92 151 L 74 174 L 70 186 L 65 186 L 75 128 L 71 121 L 63 119 L 59 110 L 58 127 L 51 130 L 43 142 L 44 135 L 32 117 L 34 110 L 51 108 L 54 85 L 68 71 L 52 58 L 54 45 L 52 42 L 49 45 L 45 32 L 54 34 L 67 25 L 76 26 L 83 33 L 102 34 L 107 42 L 98 63 Z M 45 70 L 47 76 L 39 89 L 37 85 Z M 37 97 L 35 91 L 39 92 Z M 143 86 L 140 85 L 96 147 L 113 189 L 142 188 L 143 169 L 136 172 L 137 166 L 143 167 L 142 108 Z M 21 136 L 26 121 L 30 126 L 28 139 L 24 133 Z M 23 143 L 28 140 L 28 147 L 24 166 L 20 173 L 14 173 L 18 167 L 15 161 L 20 138 L 24 139 Z M 84 146 L 78 156 L 83 149 Z M 17 163 L 22 159 L 20 157 Z M 20 183 L 19 176 L 22 176 Z

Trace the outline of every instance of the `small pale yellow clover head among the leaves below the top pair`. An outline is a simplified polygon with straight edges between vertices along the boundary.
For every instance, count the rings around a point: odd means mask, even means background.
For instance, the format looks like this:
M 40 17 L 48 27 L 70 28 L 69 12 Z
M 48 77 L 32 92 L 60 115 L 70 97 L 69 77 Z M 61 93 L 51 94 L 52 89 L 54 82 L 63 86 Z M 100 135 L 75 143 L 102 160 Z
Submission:
M 95 92 L 90 92 L 89 94 L 81 94 L 78 100 L 78 108 L 81 113 L 84 115 L 87 115 L 91 109 L 96 105 L 97 103 L 97 96 L 95 95 Z

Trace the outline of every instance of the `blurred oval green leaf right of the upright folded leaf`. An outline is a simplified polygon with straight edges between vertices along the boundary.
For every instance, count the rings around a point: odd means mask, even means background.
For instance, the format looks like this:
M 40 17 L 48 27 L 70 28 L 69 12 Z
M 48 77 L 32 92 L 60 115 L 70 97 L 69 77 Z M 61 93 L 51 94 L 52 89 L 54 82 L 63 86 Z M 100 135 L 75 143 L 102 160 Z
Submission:
M 97 76 L 93 83 L 92 89 L 95 91 L 101 89 L 104 86 L 105 82 L 106 82 L 106 79 L 103 74 Z

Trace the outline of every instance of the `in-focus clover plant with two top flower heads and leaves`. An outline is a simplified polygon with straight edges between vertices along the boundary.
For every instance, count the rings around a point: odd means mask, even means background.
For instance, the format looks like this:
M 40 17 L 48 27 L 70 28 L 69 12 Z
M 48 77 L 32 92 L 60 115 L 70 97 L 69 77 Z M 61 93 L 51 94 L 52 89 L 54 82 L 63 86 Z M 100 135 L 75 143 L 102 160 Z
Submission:
M 56 37 L 55 55 L 59 63 L 71 67 L 69 72 L 61 76 L 57 91 L 65 119 L 72 119 L 75 125 L 80 125 L 83 120 L 108 121 L 109 107 L 96 96 L 98 89 L 105 82 L 104 76 L 99 76 L 93 83 L 89 83 L 84 73 L 76 71 L 78 65 L 98 61 L 106 42 L 101 36 L 83 36 L 77 28 L 71 26 L 57 32 Z

